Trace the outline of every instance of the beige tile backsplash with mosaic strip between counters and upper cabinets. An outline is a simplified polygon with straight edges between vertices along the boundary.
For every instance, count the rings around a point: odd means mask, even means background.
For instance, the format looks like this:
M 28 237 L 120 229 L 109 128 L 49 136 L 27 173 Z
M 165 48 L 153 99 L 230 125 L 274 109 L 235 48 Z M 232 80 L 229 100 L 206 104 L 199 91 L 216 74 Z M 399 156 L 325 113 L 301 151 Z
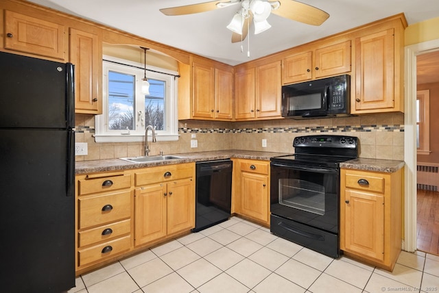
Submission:
M 93 138 L 95 116 L 76 114 L 76 142 L 88 143 L 88 155 L 76 156 L 77 161 L 103 160 L 143 155 L 143 142 L 97 143 Z M 294 153 L 292 141 L 296 136 L 331 133 L 359 138 L 359 156 L 365 158 L 403 160 L 404 114 L 370 114 L 347 118 L 311 120 L 261 120 L 246 122 L 216 122 L 180 120 L 180 138 L 176 142 L 150 144 L 150 155 L 191 153 L 245 149 Z M 191 134 L 195 133 L 198 147 L 191 148 Z M 262 147 L 262 140 L 267 147 Z

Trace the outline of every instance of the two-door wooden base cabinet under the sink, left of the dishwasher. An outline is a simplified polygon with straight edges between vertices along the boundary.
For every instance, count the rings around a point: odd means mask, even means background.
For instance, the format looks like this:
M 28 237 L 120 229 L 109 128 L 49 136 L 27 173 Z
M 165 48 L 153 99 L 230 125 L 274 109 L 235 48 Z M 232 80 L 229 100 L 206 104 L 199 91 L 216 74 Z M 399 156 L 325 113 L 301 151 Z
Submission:
M 134 173 L 134 246 L 195 227 L 195 163 Z

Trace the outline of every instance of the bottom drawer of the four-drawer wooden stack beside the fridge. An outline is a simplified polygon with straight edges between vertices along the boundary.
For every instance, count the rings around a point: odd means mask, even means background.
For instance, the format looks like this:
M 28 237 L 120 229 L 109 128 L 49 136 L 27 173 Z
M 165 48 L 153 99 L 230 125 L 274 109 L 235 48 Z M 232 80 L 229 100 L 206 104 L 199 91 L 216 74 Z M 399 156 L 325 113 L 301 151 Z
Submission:
M 78 266 L 84 266 L 98 260 L 106 259 L 130 249 L 130 235 L 123 238 L 108 241 L 103 244 L 92 246 L 78 251 Z

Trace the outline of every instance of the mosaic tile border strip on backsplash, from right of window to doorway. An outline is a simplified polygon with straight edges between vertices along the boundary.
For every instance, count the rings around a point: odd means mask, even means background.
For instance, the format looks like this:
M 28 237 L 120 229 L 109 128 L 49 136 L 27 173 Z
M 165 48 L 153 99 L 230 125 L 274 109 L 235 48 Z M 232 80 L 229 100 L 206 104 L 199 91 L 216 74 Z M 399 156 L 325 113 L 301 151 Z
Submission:
M 355 125 L 355 126 L 312 126 L 312 127 L 272 127 L 272 128 L 187 128 L 178 129 L 180 133 L 331 133 L 331 132 L 402 132 L 404 125 Z

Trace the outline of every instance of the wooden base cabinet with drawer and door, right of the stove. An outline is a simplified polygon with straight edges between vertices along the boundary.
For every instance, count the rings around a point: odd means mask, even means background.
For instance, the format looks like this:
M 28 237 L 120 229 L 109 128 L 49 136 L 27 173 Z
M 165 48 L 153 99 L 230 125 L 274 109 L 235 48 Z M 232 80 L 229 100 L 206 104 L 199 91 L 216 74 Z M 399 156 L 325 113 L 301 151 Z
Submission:
M 393 270 L 401 252 L 403 169 L 340 171 L 340 249 Z

